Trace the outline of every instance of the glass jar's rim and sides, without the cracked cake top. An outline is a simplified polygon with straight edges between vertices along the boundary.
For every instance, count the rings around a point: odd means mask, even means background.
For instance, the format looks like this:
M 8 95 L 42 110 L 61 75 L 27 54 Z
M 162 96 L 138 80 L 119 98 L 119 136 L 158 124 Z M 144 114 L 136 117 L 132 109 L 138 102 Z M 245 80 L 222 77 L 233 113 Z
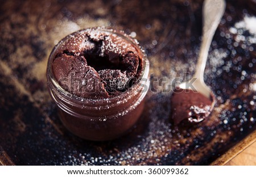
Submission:
M 138 56 L 141 57 L 141 64 L 139 64 L 141 73 L 136 74 L 137 78 L 130 79 L 133 84 L 131 82 L 127 83 L 125 91 L 109 96 L 109 98 L 85 98 L 61 86 L 58 79 L 56 79 L 53 72 L 53 61 L 59 55 L 61 47 L 73 36 L 88 30 L 118 36 L 118 39 L 133 47 Z M 95 36 L 95 33 L 93 35 Z M 125 49 L 126 45 L 121 48 Z M 89 65 L 89 62 L 87 63 Z M 108 28 L 82 29 L 68 35 L 53 48 L 47 64 L 48 91 L 59 107 L 61 121 L 73 134 L 86 140 L 112 140 L 125 134 L 141 116 L 144 107 L 144 96 L 149 87 L 148 72 L 149 62 L 146 55 L 137 41 L 130 36 Z

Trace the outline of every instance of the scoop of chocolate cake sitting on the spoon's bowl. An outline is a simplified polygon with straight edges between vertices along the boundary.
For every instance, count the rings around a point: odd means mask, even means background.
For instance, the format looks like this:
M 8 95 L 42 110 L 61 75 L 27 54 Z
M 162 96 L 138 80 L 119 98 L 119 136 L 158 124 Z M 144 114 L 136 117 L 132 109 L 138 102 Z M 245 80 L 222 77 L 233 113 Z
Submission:
M 172 120 L 177 125 L 183 120 L 199 123 L 210 115 L 214 96 L 207 98 L 200 92 L 189 89 L 175 90 L 171 98 Z

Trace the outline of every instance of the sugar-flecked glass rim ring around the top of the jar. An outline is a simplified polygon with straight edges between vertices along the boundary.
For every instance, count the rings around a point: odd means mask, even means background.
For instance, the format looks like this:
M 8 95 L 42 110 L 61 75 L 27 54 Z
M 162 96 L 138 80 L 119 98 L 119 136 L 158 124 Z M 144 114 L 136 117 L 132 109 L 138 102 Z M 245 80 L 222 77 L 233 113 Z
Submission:
M 129 43 L 133 44 L 138 49 L 138 52 L 140 52 L 142 59 L 143 59 L 142 60 L 143 69 L 142 69 L 141 75 L 138 78 L 138 83 L 135 83 L 135 85 L 131 86 L 128 90 L 124 91 L 120 95 L 113 96 L 110 98 L 102 98 L 102 99 L 83 98 L 81 96 L 72 94 L 67 90 L 64 90 L 64 88 L 59 85 L 59 83 L 56 81 L 56 78 L 53 74 L 53 69 L 52 69 L 52 61 L 54 59 L 53 57 L 55 56 L 55 52 L 72 35 L 74 35 L 75 33 L 85 31 L 86 29 L 97 29 L 100 31 L 113 33 L 113 34 L 118 35 L 119 37 L 122 37 L 123 39 L 127 40 Z M 117 29 L 111 29 L 111 28 L 105 28 L 105 27 L 85 28 L 85 29 L 81 29 L 79 31 L 73 32 L 70 35 L 64 37 L 64 39 L 59 41 L 59 43 L 57 45 L 55 45 L 55 47 L 52 49 L 52 51 L 49 55 L 48 64 L 47 64 L 47 83 L 51 88 L 51 90 L 49 90 L 49 91 L 57 91 L 58 95 L 61 96 L 61 100 L 63 100 L 66 103 L 71 103 L 71 100 L 72 100 L 73 106 L 81 106 L 81 104 L 84 104 L 86 106 L 89 106 L 89 105 L 97 106 L 98 104 L 105 103 L 105 102 L 107 102 L 107 103 L 109 103 L 109 105 L 111 105 L 112 103 L 117 102 L 117 100 L 121 100 L 121 102 L 125 102 L 126 99 L 124 99 L 124 98 L 126 98 L 127 95 L 133 94 L 132 92 L 134 92 L 134 90 L 139 89 L 139 87 L 141 87 L 141 86 L 147 86 L 148 85 L 148 83 L 147 83 L 148 82 L 147 81 L 148 73 L 149 73 L 149 61 L 147 59 L 147 56 L 146 56 L 144 50 L 139 45 L 137 40 L 133 39 L 132 37 L 127 35 L 125 32 L 123 32 L 121 30 L 117 30 Z M 148 88 L 146 88 L 146 89 L 148 89 Z M 147 92 L 147 90 L 145 90 L 145 92 Z

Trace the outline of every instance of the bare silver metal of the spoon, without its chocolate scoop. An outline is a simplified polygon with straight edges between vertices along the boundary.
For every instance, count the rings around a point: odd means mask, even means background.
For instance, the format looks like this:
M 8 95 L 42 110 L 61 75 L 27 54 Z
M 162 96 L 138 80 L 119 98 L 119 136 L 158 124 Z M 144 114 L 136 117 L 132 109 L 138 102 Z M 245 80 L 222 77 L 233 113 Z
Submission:
M 213 35 L 224 14 L 226 3 L 224 0 L 205 0 L 203 5 L 203 40 L 196 65 L 196 73 L 190 81 L 179 85 L 183 89 L 191 89 L 200 92 L 207 98 L 212 95 L 212 90 L 204 82 L 204 69 L 207 62 L 210 44 Z M 192 83 L 192 81 L 195 81 Z M 192 88 L 189 83 L 192 83 Z

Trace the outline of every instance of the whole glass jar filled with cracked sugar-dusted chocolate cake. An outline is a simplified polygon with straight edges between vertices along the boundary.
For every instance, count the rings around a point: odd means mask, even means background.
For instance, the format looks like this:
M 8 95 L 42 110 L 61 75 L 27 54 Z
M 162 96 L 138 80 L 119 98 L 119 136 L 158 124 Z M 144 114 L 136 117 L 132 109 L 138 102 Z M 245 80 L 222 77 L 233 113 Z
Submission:
M 113 140 L 142 114 L 149 62 L 121 31 L 86 28 L 64 37 L 47 66 L 48 90 L 65 127 L 86 140 Z M 61 89 L 63 88 L 63 89 Z

